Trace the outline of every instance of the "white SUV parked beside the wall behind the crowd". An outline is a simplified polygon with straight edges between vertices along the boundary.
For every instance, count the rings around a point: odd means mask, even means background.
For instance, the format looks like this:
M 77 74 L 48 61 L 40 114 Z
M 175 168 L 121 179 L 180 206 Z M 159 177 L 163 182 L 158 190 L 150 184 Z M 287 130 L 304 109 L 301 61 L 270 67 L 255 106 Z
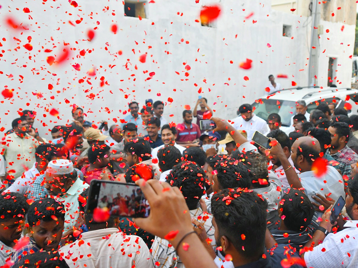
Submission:
M 349 95 L 349 100 L 346 101 L 347 95 Z M 288 134 L 292 130 L 291 118 L 296 114 L 296 101 L 299 100 L 306 102 L 308 113 L 320 103 L 330 104 L 335 100 L 336 108 L 343 108 L 346 102 L 352 104 L 352 109 L 348 110 L 348 116 L 358 114 L 358 89 L 350 88 L 320 88 L 316 86 L 283 89 L 277 91 L 273 96 L 263 96 L 256 100 L 252 107 L 255 107 L 254 113 L 264 120 L 267 120 L 267 116 L 271 113 L 279 114 L 282 122 L 281 129 Z

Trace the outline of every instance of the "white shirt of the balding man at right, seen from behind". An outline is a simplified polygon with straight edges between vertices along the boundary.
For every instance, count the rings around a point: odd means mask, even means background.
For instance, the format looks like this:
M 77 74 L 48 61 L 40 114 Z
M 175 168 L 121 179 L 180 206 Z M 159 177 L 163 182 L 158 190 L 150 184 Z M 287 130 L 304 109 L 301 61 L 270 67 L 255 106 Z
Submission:
M 316 177 L 313 171 L 302 172 L 298 175 L 301 180 L 302 187 L 305 189 L 305 194 L 311 200 L 316 202 L 312 195 L 319 193 L 321 195 L 329 194 L 329 197 L 334 200 L 338 200 L 339 196 L 345 197 L 344 182 L 342 176 L 337 169 L 331 166 L 327 166 L 327 172 L 321 177 Z M 317 212 L 318 216 L 323 213 Z

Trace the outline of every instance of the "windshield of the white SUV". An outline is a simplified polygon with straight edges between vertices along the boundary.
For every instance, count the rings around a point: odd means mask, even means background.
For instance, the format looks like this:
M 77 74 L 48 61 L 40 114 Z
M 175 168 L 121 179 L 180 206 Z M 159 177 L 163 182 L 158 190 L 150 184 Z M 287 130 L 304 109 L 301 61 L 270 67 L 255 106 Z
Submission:
M 269 114 L 276 113 L 281 116 L 282 126 L 291 125 L 291 117 L 296 114 L 296 101 L 262 99 L 252 104 L 254 113 L 267 121 Z

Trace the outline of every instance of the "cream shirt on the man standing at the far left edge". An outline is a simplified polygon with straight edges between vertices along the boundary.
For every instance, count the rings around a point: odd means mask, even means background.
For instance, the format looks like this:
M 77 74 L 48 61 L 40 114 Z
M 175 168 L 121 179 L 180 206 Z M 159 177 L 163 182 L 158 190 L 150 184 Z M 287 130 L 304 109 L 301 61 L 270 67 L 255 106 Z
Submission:
M 24 172 L 23 165 L 31 168 L 35 163 L 35 151 L 39 142 L 29 134 L 26 133 L 21 139 L 15 132 L 11 133 L 3 138 L 1 144 L 0 151 L 4 150 L 7 172 L 15 178 Z

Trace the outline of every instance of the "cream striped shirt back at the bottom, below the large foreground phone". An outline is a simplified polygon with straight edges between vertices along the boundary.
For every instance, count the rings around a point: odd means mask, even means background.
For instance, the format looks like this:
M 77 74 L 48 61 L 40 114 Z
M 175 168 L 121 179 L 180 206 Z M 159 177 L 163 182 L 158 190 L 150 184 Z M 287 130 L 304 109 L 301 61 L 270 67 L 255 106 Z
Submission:
M 153 268 L 147 245 L 136 235 L 125 235 L 117 228 L 82 233 L 81 240 L 58 250 L 72 267 L 145 267 Z

